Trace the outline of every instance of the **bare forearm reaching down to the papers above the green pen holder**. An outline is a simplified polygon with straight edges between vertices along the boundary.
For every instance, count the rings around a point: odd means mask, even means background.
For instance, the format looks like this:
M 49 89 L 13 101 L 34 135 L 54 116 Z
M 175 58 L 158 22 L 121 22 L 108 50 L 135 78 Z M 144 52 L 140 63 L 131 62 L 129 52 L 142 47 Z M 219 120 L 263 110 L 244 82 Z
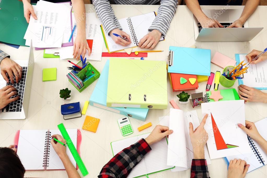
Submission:
M 77 23 L 77 35 L 85 36 L 86 13 L 83 0 L 72 0 L 73 12 Z

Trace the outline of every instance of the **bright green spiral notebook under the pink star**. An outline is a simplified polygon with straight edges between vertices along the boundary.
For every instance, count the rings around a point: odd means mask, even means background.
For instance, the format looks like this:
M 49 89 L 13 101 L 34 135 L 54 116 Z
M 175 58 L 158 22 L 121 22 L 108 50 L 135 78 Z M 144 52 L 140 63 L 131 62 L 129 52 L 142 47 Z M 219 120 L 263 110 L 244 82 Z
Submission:
M 238 93 L 234 88 L 220 90 L 220 93 L 223 98 L 219 99 L 219 101 L 240 100 Z M 214 102 L 214 100 L 210 98 L 210 95 L 211 91 L 207 91 L 207 94 L 205 94 L 206 101 Z

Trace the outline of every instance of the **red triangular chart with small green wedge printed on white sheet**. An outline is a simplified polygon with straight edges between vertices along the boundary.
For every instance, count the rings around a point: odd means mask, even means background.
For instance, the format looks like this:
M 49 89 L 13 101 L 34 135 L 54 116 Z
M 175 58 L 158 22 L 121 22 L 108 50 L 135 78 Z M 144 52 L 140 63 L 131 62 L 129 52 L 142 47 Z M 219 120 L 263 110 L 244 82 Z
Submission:
M 223 140 L 222 135 L 221 135 L 221 133 L 217 127 L 217 124 L 214 121 L 212 114 L 211 114 L 211 122 L 212 122 L 213 135 L 214 135 L 217 150 L 238 147 L 236 145 L 230 145 L 230 144 L 225 143 L 225 141 Z

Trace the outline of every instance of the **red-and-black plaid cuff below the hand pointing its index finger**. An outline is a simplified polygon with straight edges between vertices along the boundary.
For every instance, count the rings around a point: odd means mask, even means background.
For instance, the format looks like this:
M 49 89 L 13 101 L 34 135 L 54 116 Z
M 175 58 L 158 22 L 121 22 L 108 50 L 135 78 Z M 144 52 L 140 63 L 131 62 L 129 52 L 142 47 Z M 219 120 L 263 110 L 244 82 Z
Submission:
M 191 178 L 210 177 L 207 161 L 205 159 L 193 159 L 191 164 Z

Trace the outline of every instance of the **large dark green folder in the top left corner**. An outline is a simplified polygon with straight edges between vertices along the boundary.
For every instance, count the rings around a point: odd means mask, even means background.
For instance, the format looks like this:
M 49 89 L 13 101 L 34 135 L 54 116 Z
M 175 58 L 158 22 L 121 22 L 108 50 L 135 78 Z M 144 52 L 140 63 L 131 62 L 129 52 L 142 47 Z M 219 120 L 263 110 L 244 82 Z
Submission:
M 23 39 L 28 27 L 23 3 L 18 0 L 0 1 L 0 41 L 26 46 Z

